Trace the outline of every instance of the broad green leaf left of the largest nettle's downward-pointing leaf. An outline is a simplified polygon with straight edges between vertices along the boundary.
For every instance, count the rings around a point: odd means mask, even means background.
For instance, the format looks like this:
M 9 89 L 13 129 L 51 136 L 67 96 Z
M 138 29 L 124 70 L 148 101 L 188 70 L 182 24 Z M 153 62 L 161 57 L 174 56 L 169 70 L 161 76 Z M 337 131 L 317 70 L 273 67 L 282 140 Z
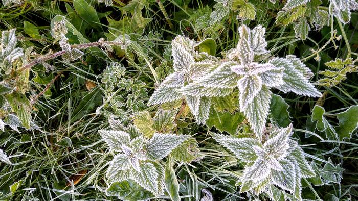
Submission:
M 229 112 L 216 112 L 212 111 L 209 115 L 209 119 L 206 121 L 206 125 L 209 129 L 215 127 L 220 132 L 228 132 L 231 135 L 236 134 L 238 125 L 245 120 L 245 116 L 242 113 L 231 114 Z

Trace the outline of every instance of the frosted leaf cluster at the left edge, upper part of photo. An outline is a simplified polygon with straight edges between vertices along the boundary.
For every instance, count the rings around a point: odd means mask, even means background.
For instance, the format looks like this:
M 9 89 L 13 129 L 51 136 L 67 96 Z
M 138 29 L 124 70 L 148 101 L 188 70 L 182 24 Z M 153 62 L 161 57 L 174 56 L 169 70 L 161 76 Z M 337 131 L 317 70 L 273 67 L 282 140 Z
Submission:
M 16 47 L 17 39 L 15 29 L 3 31 L 0 43 L 0 71 L 9 74 L 12 69 L 12 62 L 24 55 L 24 50 Z

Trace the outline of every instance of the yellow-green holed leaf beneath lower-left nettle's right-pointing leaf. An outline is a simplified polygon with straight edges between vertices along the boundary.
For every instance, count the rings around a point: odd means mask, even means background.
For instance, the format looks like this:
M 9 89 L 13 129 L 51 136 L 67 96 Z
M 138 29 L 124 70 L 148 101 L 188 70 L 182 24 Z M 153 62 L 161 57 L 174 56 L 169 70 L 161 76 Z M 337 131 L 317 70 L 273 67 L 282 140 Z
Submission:
M 198 144 L 195 138 L 188 138 L 170 153 L 170 157 L 182 163 L 190 163 L 199 157 Z

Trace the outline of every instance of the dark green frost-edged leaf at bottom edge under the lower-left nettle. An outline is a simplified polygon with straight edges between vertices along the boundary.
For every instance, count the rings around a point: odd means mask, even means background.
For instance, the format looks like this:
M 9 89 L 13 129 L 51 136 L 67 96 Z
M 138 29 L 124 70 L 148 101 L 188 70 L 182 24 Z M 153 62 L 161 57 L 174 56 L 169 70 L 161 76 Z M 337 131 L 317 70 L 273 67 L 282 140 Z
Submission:
M 108 196 L 118 196 L 121 200 L 137 201 L 154 198 L 154 194 L 145 190 L 133 180 L 112 183 L 107 189 Z

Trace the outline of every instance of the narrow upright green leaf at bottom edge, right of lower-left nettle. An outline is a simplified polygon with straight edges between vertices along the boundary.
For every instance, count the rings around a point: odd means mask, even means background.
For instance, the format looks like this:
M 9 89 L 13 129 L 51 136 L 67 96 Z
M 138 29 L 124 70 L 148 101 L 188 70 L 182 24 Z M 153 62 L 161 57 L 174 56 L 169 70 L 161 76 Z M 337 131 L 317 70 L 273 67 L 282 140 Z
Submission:
M 165 166 L 165 176 L 164 176 L 164 182 L 165 182 L 165 188 L 167 189 L 167 192 L 170 195 L 171 200 L 173 201 L 180 201 L 179 196 L 179 183 L 176 179 L 176 174 L 173 168 L 173 161 L 169 157 L 167 160 L 167 164 Z

